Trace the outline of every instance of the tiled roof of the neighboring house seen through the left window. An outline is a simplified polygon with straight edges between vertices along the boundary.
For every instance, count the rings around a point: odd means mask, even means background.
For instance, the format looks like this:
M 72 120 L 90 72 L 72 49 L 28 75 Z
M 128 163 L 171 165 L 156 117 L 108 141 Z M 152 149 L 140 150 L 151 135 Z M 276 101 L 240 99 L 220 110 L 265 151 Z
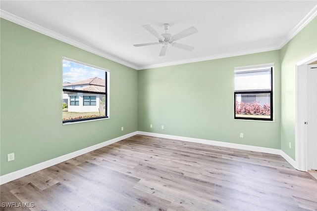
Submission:
M 106 91 L 106 80 L 100 78 L 92 78 L 92 79 L 85 79 L 82 81 L 74 82 L 74 83 L 67 83 L 64 82 L 63 86 L 78 86 L 83 85 L 84 87 L 76 87 L 76 90 L 84 90 L 84 91 L 97 91 L 97 92 L 105 92 Z

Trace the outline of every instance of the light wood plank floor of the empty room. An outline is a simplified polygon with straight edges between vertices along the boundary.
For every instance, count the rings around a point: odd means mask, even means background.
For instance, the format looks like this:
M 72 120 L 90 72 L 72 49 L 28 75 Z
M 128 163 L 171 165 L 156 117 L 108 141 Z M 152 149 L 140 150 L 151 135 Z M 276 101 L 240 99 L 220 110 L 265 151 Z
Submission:
M 0 188 L 37 211 L 317 211 L 317 181 L 281 156 L 143 135 Z

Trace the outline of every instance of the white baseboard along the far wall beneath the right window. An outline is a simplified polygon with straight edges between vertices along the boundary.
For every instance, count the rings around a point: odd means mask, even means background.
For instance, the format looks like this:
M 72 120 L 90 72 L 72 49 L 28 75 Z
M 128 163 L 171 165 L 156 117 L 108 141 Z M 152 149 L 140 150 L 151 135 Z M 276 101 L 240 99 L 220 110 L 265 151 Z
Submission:
M 266 147 L 235 144 L 235 143 L 228 143 L 228 142 L 222 142 L 222 141 L 212 141 L 212 140 L 200 139 L 200 138 L 189 138 L 189 137 L 176 136 L 176 135 L 166 135 L 166 134 L 153 133 L 153 132 L 138 131 L 138 134 L 149 135 L 149 136 L 154 136 L 159 138 L 169 138 L 169 139 L 175 139 L 180 141 L 189 141 L 189 142 L 201 143 L 201 144 L 209 144 L 209 145 L 215 145 L 215 146 L 221 146 L 221 147 L 230 147 L 234 149 L 244 149 L 249 151 L 264 152 L 264 153 L 275 154 L 275 155 L 281 154 L 281 150 L 279 149 L 272 149 L 272 148 L 266 148 Z

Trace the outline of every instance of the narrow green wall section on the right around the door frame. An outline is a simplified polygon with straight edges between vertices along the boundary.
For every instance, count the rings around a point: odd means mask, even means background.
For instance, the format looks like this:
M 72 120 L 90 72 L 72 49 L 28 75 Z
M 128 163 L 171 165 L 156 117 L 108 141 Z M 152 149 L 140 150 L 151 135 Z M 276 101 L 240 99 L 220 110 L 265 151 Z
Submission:
M 317 52 L 317 17 L 280 50 L 281 150 L 295 160 L 296 63 Z

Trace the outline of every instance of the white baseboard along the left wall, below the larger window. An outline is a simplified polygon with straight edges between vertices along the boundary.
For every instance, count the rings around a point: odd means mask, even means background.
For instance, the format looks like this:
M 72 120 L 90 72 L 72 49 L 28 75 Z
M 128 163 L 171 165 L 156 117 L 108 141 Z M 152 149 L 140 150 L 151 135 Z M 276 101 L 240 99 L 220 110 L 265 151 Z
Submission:
M 30 173 L 34 173 L 36 171 L 52 167 L 52 166 L 54 166 L 56 164 L 59 164 L 61 162 L 65 162 L 65 161 L 67 161 L 69 159 L 72 159 L 72 158 L 75 158 L 77 156 L 86 154 L 88 152 L 97 150 L 99 148 L 105 147 L 107 145 L 113 144 L 115 142 L 121 141 L 121 140 L 123 140 L 125 138 L 129 138 L 129 137 L 137 135 L 137 134 L 138 134 L 137 131 L 131 132 L 129 134 L 122 135 L 120 137 L 116 137 L 116 138 L 110 139 L 108 141 L 105 141 L 105 142 L 102 142 L 102 143 L 99 143 L 99 144 L 96 144 L 96 145 L 93 145 L 93 146 L 90 146 L 90 147 L 87 147 L 87 148 L 72 152 L 72 153 L 69 153 L 69 154 L 66 154 L 66 155 L 62 155 L 62 156 L 57 157 L 57 158 L 53 158 L 53 159 L 51 159 L 49 161 L 45 161 L 43 163 L 36 164 L 34 166 L 27 167 L 25 169 L 20 169 L 20 170 L 17 170 L 17 171 L 8 173 L 8 174 L 4 174 L 4 175 L 0 176 L 0 185 L 4 184 L 4 183 L 7 183 L 9 181 L 12 181 L 14 179 L 21 178 L 22 176 L 26 176 L 26 175 L 28 175 Z

